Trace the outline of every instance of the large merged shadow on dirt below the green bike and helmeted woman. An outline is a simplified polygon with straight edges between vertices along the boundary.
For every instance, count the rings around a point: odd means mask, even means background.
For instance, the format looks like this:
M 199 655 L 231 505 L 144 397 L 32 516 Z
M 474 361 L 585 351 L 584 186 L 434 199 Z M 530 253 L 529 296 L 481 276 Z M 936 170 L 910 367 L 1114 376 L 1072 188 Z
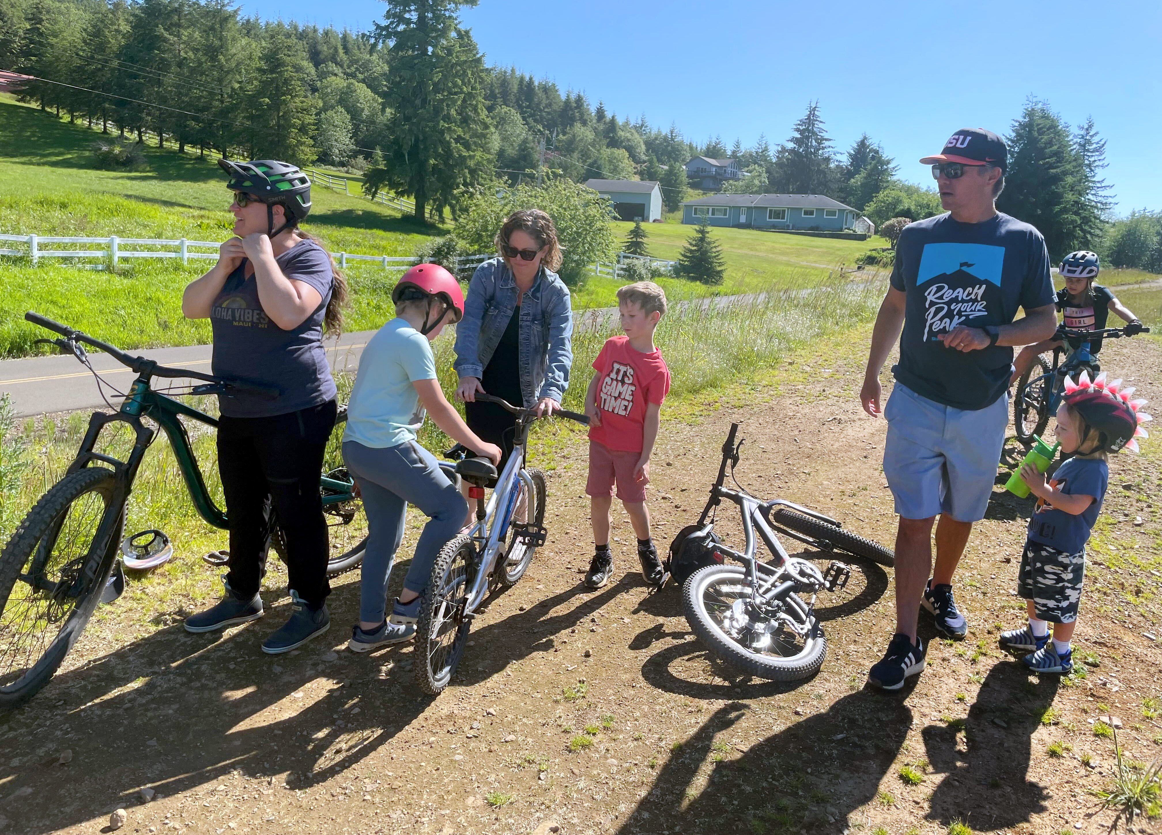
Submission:
M 225 635 L 193 635 L 177 622 L 57 675 L 0 715 L 0 784 L 6 794 L 33 790 L 5 806 L 13 832 L 63 829 L 137 805 L 142 786 L 167 796 L 242 773 L 270 778 L 261 791 L 274 793 L 358 765 L 432 701 L 397 652 L 372 662 L 336 652 L 336 612 L 357 611 L 358 595 L 358 583 L 338 586 L 331 632 L 286 655 L 259 646 L 289 617 L 284 597 Z M 83 640 L 105 640 L 101 632 L 94 624 Z M 65 749 L 71 763 L 57 765 Z M 66 769 L 71 791 L 62 794 Z

